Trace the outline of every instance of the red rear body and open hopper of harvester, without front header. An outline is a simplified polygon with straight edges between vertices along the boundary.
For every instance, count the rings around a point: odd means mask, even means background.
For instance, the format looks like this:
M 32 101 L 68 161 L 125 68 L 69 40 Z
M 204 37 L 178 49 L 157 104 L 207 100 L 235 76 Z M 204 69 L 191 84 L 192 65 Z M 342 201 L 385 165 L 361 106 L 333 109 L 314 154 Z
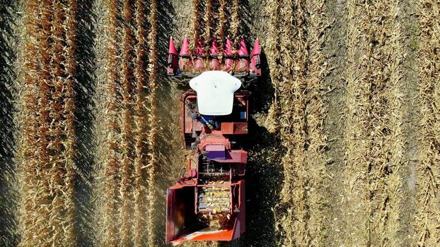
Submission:
M 245 231 L 245 164 L 247 152 L 245 150 L 234 150 L 230 139 L 239 135 L 248 133 L 248 114 L 249 114 L 249 92 L 240 90 L 235 93 L 235 102 L 241 104 L 241 109 L 245 111 L 245 117 L 242 119 L 233 119 L 233 121 L 221 121 L 219 129 L 209 130 L 199 122 L 198 119 L 192 119 L 187 102 L 192 102 L 193 111 L 197 112 L 197 93 L 193 90 L 187 90 L 181 95 L 180 116 L 182 127 L 182 140 L 185 146 L 189 147 L 188 142 L 194 142 L 195 155 L 188 160 L 186 174 L 176 183 L 175 186 L 167 190 L 167 222 L 166 222 L 166 241 L 172 244 L 179 244 L 183 241 L 231 241 L 238 238 Z M 195 128 L 197 134 L 201 137 L 189 139 Z M 197 140 L 197 141 L 196 141 Z M 199 183 L 199 156 L 207 152 L 207 147 L 213 145 L 224 146 L 226 152 L 225 159 L 213 159 L 217 164 L 227 164 L 227 166 L 236 166 L 236 172 L 233 174 L 232 167 L 229 172 L 227 183 L 203 184 Z M 194 148 L 194 145 L 193 147 Z M 197 160 L 197 169 L 192 169 L 192 160 Z M 235 187 L 238 186 L 238 195 L 233 196 Z M 197 226 L 197 215 L 206 214 L 209 211 L 198 210 L 198 191 L 202 187 L 228 187 L 231 188 L 230 208 L 231 222 L 225 229 L 216 229 L 215 231 L 205 231 L 195 227 L 191 229 L 190 225 Z

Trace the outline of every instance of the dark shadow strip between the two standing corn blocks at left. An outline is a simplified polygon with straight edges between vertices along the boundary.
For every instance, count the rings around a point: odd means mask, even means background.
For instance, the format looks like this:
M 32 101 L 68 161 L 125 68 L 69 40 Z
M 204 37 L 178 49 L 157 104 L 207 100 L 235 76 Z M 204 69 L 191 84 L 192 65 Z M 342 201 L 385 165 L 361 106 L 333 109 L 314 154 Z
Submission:
M 95 103 L 95 68 L 96 59 L 93 50 L 95 44 L 96 16 L 93 13 L 95 0 L 78 0 L 76 12 L 76 218 L 75 230 L 78 236 L 78 246 L 93 246 L 95 236 L 93 233 L 93 198 L 92 198 L 92 172 L 94 166 L 95 138 L 93 136 L 93 123 L 95 116 L 93 109 Z

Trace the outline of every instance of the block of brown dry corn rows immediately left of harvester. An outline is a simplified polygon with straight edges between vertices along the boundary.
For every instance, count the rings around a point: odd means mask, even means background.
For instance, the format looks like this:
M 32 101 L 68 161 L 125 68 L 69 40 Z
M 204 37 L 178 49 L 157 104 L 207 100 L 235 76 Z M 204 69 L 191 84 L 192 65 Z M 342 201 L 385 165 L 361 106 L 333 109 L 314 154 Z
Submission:
M 108 11 L 102 243 L 154 245 L 157 3 L 112 0 Z

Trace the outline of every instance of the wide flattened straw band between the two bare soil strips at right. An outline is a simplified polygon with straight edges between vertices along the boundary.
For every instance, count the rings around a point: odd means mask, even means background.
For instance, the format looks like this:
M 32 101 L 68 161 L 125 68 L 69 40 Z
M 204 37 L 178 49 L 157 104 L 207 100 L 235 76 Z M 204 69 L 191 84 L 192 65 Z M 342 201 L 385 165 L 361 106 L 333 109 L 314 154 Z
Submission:
M 403 222 L 403 38 L 395 3 L 349 3 L 345 244 L 400 246 Z M 361 32 L 359 32 L 361 30 Z M 363 54 L 359 56 L 359 54 Z

